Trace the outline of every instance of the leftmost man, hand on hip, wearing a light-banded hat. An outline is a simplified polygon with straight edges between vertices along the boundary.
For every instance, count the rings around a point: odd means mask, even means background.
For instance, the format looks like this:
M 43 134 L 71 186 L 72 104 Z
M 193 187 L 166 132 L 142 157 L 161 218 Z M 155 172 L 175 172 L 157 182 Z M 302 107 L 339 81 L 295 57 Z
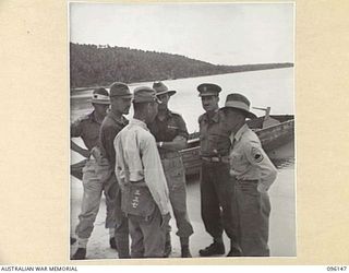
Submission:
M 91 237 L 100 204 L 100 199 L 92 198 L 95 195 L 98 197 L 99 194 L 99 190 L 96 191 L 96 187 L 99 185 L 99 178 L 96 175 L 96 161 L 91 156 L 91 154 L 93 149 L 98 144 L 99 129 L 107 115 L 106 110 L 110 105 L 108 92 L 105 88 L 94 90 L 91 103 L 94 110 L 71 124 L 71 138 L 82 138 L 85 146 L 87 147 L 83 149 L 71 141 L 71 149 L 86 158 L 83 163 L 79 163 L 79 165 L 84 164 L 83 174 L 74 174 L 74 166 L 72 167 L 72 175 L 82 179 L 84 186 L 81 206 L 82 210 L 79 215 L 79 224 L 75 229 L 77 235 L 77 245 L 82 250 L 79 250 L 77 254 L 74 254 L 73 259 L 85 258 L 87 240 Z M 112 240 L 113 235 L 110 238 L 111 242 Z M 113 247 L 112 244 L 110 246 Z

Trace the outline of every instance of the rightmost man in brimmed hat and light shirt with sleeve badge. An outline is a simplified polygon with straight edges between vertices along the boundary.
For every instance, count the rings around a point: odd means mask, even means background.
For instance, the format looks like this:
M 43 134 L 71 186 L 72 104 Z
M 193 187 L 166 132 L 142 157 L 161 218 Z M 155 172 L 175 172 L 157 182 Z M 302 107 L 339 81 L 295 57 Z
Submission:
M 236 177 L 236 210 L 239 218 L 239 239 L 242 256 L 269 256 L 268 223 L 270 202 L 268 189 L 277 170 L 264 152 L 258 136 L 245 123 L 256 118 L 250 111 L 249 99 L 241 94 L 229 94 L 225 107 L 230 132 L 231 175 Z

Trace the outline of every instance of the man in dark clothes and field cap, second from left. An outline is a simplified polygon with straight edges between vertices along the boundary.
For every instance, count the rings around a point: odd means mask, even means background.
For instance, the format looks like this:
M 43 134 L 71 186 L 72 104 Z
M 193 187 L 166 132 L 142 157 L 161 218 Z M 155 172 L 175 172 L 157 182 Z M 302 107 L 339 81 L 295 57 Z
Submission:
M 128 219 L 121 211 L 121 192 L 115 174 L 116 150 L 113 140 L 129 121 L 132 94 L 127 84 L 116 82 L 110 86 L 110 111 L 105 118 L 99 131 L 99 146 L 101 161 L 99 173 L 105 181 L 105 193 L 113 202 L 113 218 L 110 225 L 115 226 L 115 238 L 119 258 L 130 258 Z M 113 224 L 112 224 L 113 222 Z

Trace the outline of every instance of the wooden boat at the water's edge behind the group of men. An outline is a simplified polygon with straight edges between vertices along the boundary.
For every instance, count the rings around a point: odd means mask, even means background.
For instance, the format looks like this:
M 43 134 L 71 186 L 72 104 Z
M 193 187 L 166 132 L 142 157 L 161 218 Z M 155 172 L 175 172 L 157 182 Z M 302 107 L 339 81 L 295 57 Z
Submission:
M 270 107 L 255 109 L 265 110 L 266 115 L 249 120 L 248 126 L 258 135 L 267 154 L 294 139 L 293 115 L 269 115 Z M 198 136 L 198 132 L 191 133 L 188 147 L 181 151 L 186 176 L 198 174 L 201 168 Z M 71 175 L 81 180 L 84 165 L 85 161 L 72 165 Z

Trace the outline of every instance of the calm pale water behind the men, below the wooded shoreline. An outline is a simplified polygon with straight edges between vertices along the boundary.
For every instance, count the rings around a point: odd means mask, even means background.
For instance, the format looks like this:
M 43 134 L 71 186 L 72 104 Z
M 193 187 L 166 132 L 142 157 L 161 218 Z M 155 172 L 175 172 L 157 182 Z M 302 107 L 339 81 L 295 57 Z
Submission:
M 227 94 L 238 92 L 244 94 L 251 100 L 252 106 L 270 106 L 272 114 L 293 114 L 292 68 L 164 81 L 169 88 L 177 91 L 177 94 L 170 98 L 169 108 L 183 116 L 189 132 L 198 131 L 197 118 L 203 114 L 203 108 L 196 87 L 204 82 L 221 86 L 219 106 L 224 106 Z M 152 82 L 132 84 L 131 92 L 136 86 L 152 86 Z M 92 90 L 73 94 L 71 100 L 73 120 L 88 111 L 91 93 Z M 257 116 L 263 116 L 263 111 L 252 111 Z M 132 117 L 132 112 L 129 117 Z

